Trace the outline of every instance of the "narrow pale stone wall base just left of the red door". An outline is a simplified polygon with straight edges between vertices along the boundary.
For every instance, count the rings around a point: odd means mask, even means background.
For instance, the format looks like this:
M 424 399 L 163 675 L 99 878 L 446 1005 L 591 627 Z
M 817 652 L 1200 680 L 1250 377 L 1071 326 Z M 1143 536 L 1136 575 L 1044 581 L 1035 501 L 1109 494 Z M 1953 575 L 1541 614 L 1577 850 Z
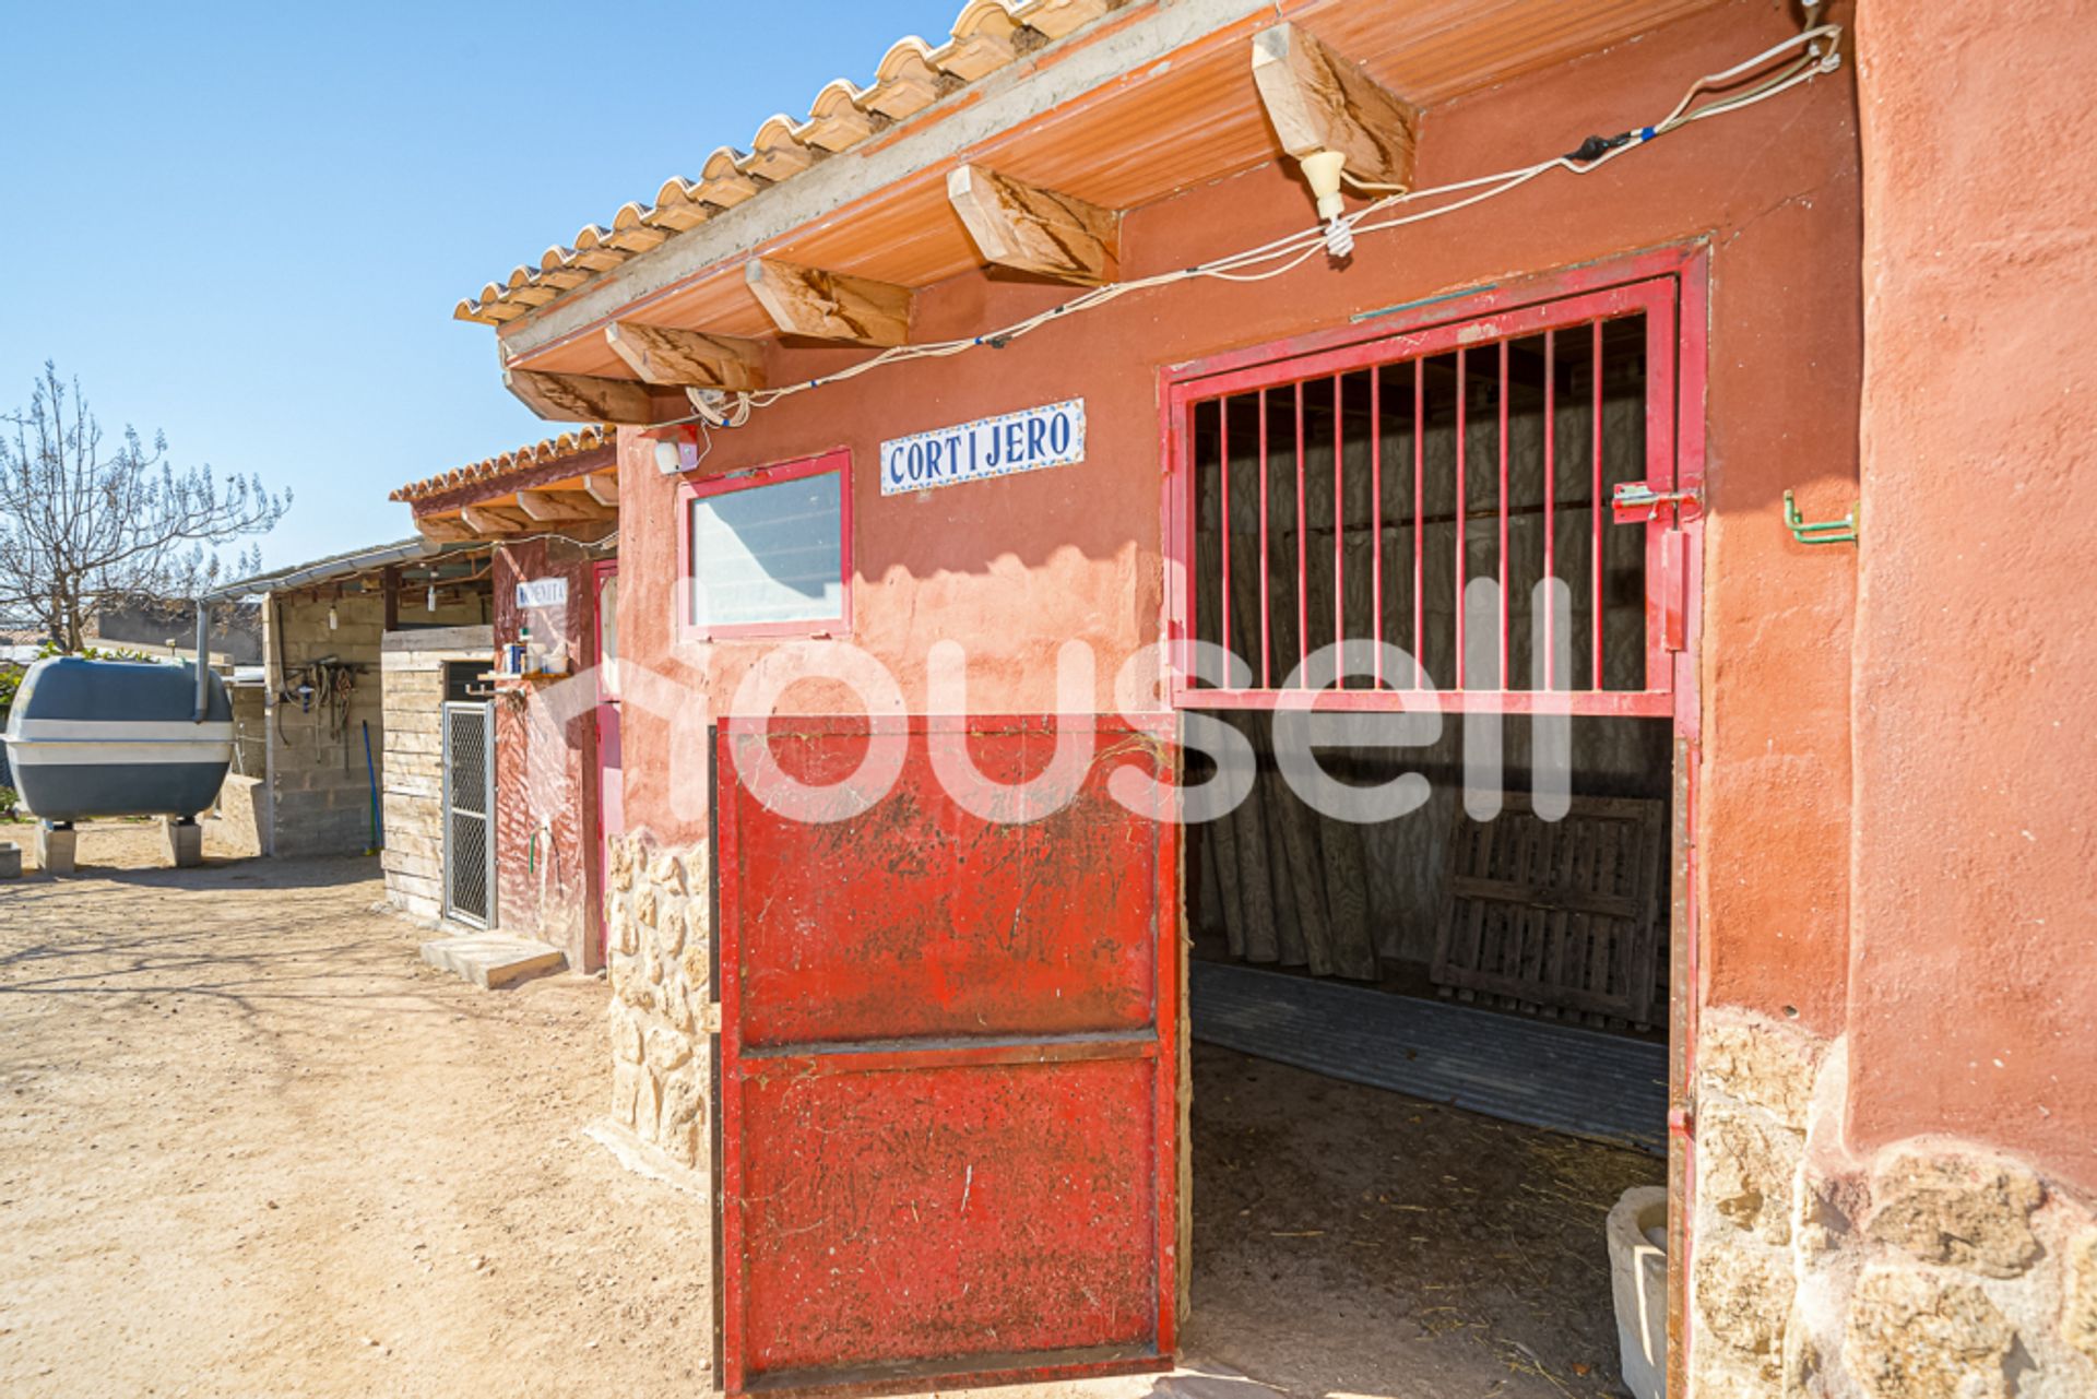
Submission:
M 612 1120 L 677 1166 L 709 1170 L 713 917 L 707 847 L 614 837 L 610 868 Z

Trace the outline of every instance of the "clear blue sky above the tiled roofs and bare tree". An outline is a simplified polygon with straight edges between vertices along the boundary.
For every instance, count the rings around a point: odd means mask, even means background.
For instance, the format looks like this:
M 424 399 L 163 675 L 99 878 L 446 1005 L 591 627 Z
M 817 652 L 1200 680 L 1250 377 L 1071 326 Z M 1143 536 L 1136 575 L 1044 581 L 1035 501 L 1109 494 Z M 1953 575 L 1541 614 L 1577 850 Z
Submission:
M 0 411 L 55 359 L 105 430 L 291 487 L 279 566 L 405 537 L 394 487 L 558 430 L 459 296 L 960 0 L 0 8 Z

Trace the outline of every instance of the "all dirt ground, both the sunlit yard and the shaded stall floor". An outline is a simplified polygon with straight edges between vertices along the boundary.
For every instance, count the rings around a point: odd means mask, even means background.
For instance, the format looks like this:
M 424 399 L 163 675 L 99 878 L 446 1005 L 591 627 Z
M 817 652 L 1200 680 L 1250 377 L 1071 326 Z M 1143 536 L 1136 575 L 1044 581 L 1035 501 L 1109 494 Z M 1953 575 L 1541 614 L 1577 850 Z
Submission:
M 78 879 L 0 883 L 0 1393 L 711 1389 L 702 1204 L 583 1137 L 604 984 L 472 990 L 375 862 L 226 854 L 94 824 Z M 1193 1139 L 1195 1368 L 1617 1393 L 1602 1214 L 1659 1162 L 1212 1047 Z

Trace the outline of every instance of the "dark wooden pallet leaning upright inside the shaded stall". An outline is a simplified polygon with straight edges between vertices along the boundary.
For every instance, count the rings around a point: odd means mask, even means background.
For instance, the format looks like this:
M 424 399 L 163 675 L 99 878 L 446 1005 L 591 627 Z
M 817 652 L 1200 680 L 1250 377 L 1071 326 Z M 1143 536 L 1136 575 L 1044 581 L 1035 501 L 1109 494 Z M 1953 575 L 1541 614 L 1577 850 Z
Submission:
M 1457 812 L 1430 977 L 1478 996 L 1592 1024 L 1655 1024 L 1667 1005 L 1663 801 L 1575 797 L 1543 820 L 1508 793 L 1487 822 Z

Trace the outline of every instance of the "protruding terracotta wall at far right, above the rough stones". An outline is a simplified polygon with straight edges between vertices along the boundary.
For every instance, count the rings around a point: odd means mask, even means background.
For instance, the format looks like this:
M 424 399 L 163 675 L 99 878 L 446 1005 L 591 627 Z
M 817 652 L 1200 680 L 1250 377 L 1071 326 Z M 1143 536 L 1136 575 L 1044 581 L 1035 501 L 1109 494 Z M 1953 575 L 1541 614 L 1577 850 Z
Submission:
M 1866 0 L 1860 27 L 1850 1131 L 2097 1189 L 2097 25 Z

